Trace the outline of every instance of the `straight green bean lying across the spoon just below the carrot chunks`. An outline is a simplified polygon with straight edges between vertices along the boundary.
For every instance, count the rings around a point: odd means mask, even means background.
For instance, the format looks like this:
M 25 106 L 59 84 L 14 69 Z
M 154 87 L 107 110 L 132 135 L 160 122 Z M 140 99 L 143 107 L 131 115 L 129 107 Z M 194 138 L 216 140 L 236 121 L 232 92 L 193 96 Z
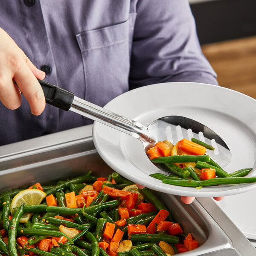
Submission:
M 209 160 L 210 157 L 208 155 L 177 155 L 169 157 L 157 157 L 151 161 L 153 163 L 196 163 L 198 161 L 209 162 Z

